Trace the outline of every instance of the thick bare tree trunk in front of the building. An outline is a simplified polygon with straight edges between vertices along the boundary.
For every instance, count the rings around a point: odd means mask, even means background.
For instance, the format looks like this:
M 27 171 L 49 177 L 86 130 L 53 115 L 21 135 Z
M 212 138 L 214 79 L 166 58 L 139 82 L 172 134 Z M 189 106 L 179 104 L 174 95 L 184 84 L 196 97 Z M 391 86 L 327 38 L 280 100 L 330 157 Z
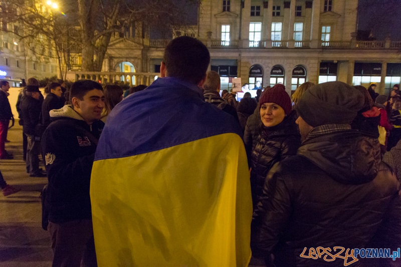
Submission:
M 82 29 L 82 71 L 94 71 L 96 15 L 100 0 L 78 0 L 79 23 Z

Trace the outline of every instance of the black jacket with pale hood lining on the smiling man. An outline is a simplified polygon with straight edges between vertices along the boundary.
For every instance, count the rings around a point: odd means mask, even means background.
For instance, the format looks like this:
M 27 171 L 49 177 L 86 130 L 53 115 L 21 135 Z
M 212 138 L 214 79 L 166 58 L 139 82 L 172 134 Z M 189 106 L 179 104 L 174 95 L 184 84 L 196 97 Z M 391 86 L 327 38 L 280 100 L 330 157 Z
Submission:
M 49 220 L 92 219 L 89 185 L 96 144 L 82 128 L 99 139 L 104 123 L 99 120 L 88 125 L 70 106 L 52 111 L 51 116 L 54 121 L 42 137 Z

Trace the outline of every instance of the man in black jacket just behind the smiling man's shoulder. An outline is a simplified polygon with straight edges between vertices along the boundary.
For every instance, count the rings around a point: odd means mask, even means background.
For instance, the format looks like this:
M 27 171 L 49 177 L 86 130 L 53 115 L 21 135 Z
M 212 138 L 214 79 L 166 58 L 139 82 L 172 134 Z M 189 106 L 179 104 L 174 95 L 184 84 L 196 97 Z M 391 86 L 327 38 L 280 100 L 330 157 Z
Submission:
M 63 95 L 61 85 L 59 83 L 51 83 L 49 85 L 49 91 L 50 93 L 42 103 L 42 125 L 45 129 L 52 122 L 49 112 L 52 109 L 61 109 L 64 106 L 64 100 L 61 99 Z

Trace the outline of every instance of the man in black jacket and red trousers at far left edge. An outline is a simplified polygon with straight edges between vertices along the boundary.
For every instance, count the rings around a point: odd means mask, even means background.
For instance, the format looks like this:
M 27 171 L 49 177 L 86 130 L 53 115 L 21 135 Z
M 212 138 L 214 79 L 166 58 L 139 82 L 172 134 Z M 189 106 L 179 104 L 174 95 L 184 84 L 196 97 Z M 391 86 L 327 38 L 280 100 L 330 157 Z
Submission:
M 0 159 L 13 159 L 13 155 L 6 151 L 7 132 L 9 123 L 13 118 L 11 112 L 10 102 L 7 98 L 9 96 L 10 84 L 7 81 L 0 82 Z

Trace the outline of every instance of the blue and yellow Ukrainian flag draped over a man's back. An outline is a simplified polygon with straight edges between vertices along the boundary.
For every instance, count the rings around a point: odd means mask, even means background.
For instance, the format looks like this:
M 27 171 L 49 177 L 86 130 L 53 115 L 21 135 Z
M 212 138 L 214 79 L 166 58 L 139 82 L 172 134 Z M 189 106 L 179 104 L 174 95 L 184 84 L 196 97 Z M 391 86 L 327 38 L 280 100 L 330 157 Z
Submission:
M 252 199 L 238 122 L 159 78 L 111 112 L 93 163 L 99 266 L 247 266 Z

